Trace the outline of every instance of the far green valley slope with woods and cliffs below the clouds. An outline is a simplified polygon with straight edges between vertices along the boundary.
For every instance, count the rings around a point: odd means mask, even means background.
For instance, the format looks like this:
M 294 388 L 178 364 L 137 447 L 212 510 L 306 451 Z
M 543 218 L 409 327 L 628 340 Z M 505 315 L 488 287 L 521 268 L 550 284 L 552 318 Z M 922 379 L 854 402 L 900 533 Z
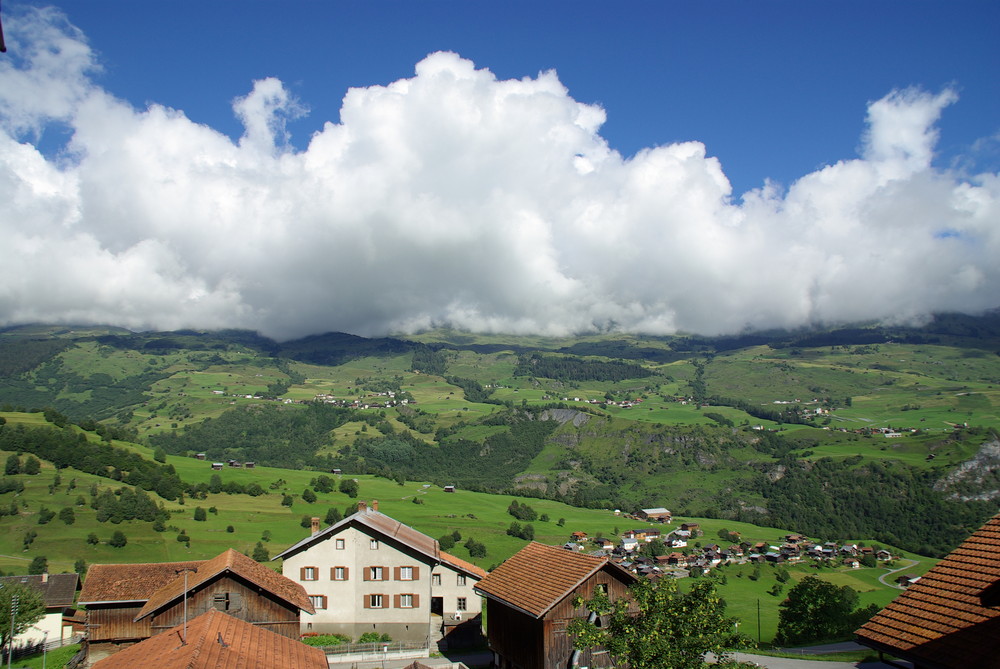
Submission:
M 306 479 L 667 506 L 940 555 L 996 510 L 998 333 L 996 315 L 716 339 L 32 326 L 0 333 L 0 406 Z

